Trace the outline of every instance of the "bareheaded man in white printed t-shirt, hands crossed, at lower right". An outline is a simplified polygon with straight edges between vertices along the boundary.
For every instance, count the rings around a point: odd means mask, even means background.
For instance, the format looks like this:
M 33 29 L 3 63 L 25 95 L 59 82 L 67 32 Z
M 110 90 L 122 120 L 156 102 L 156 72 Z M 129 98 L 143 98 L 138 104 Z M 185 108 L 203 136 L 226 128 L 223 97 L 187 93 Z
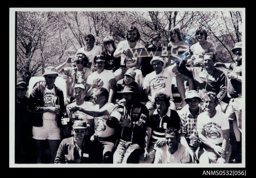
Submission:
M 228 118 L 216 110 L 218 98 L 215 93 L 206 93 L 203 100 L 205 112 L 197 118 L 198 136 L 203 143 L 199 163 L 228 163 L 231 153 Z

